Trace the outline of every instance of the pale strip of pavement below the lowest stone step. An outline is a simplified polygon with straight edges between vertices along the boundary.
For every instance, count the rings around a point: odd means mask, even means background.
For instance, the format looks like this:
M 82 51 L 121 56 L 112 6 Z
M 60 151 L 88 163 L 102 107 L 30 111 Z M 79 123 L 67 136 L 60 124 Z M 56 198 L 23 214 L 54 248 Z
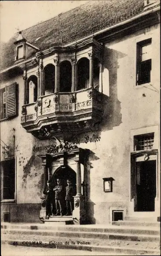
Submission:
M 121 256 L 126 254 L 87 252 L 70 249 L 40 248 L 29 246 L 1 245 L 1 256 Z

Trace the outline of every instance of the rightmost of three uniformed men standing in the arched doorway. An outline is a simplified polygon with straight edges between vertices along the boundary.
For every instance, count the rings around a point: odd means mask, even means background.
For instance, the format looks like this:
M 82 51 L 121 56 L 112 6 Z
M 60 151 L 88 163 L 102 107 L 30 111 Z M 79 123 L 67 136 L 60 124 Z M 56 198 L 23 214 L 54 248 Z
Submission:
M 72 200 L 73 200 L 73 187 L 72 182 L 70 180 L 66 181 L 68 186 L 66 187 L 66 216 L 72 215 Z

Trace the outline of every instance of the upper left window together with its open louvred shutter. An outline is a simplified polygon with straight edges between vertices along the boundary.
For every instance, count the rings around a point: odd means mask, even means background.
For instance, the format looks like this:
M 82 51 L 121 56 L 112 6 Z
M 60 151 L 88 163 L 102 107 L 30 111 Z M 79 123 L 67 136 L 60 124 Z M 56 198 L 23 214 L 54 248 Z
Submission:
M 0 120 L 14 117 L 16 108 L 16 83 L 12 83 L 0 90 Z

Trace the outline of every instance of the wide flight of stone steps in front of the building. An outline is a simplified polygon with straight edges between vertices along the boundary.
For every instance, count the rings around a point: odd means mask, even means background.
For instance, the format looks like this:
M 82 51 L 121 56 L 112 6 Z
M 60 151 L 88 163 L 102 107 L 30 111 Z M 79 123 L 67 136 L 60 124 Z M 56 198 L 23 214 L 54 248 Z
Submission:
M 76 248 L 80 250 L 112 252 L 116 253 L 116 255 L 120 255 L 120 253 L 126 255 L 160 255 L 159 227 L 154 227 L 152 230 L 149 226 L 52 226 L 45 224 L 2 223 L 1 234 L 1 241 L 9 244 L 13 244 L 14 241 L 18 241 L 19 245 L 22 245 L 23 241 L 43 241 L 42 246 L 44 247 Z M 62 244 L 49 245 L 49 241 L 61 241 Z M 65 241 L 69 241 L 70 244 L 66 245 Z M 72 245 L 71 241 L 74 241 L 75 245 Z M 89 244 L 77 244 L 77 241 L 80 243 L 85 241 Z

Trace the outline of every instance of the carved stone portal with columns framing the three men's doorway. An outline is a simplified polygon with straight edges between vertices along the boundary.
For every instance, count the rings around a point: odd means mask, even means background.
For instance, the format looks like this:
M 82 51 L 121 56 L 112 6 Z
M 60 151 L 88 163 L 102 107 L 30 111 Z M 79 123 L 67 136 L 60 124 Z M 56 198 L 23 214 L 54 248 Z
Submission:
M 65 186 L 67 179 L 70 178 L 74 181 L 74 194 L 76 196 L 73 196 L 73 222 L 74 224 L 84 224 L 86 218 L 85 196 L 81 193 L 81 162 L 84 162 L 83 150 L 71 142 L 59 141 L 48 148 L 47 154 L 41 154 L 39 157 L 43 159 L 44 186 L 46 186 L 47 180 L 51 180 L 55 184 L 58 177 L 62 179 L 62 183 Z M 42 196 L 40 211 L 40 219 L 42 221 L 46 221 L 48 218 L 46 210 L 46 201 Z M 52 220 L 54 221 L 54 217 L 52 217 Z

